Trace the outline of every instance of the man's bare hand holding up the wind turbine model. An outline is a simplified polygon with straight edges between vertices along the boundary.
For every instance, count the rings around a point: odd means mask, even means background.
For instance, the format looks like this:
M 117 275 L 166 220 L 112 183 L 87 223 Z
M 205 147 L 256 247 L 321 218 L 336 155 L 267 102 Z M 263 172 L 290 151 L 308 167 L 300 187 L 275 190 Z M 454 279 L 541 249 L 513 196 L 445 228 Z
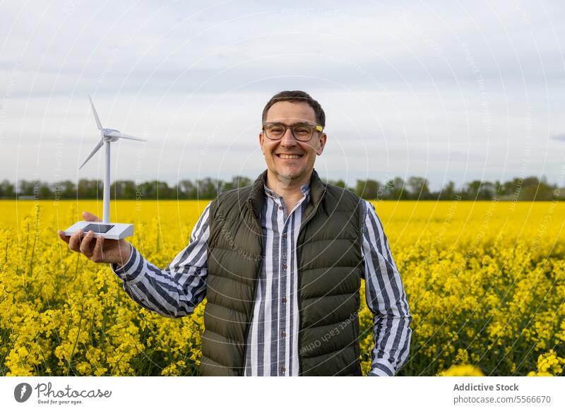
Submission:
M 83 212 L 83 217 L 86 221 L 102 221 L 87 211 Z M 83 230 L 77 230 L 69 237 L 59 230 L 59 237 L 69 244 L 69 249 L 84 254 L 95 263 L 116 263 L 123 266 L 129 260 L 131 253 L 131 247 L 126 240 L 104 239 L 99 236 L 92 241 L 95 238 L 92 231 L 85 234 Z

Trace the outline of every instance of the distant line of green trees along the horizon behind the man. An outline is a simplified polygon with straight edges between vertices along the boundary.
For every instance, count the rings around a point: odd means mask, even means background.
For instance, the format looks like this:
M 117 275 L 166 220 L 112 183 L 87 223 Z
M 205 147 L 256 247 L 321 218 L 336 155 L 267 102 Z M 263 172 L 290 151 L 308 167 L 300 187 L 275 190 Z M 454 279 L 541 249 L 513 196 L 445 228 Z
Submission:
M 457 187 L 453 181 L 440 191 L 429 189 L 428 179 L 400 177 L 381 182 L 376 180 L 357 180 L 355 187 L 345 181 L 328 180 L 330 184 L 355 192 L 367 200 L 499 200 L 508 201 L 550 201 L 565 198 L 565 187 L 549 184 L 545 177 L 515 177 L 509 181 L 470 181 Z M 231 181 L 222 181 L 210 177 L 204 179 L 183 179 L 169 186 L 165 181 L 131 180 L 114 181 L 110 187 L 112 198 L 124 200 L 154 199 L 213 199 L 218 194 L 238 187 L 248 186 L 253 180 L 247 177 L 233 177 Z M 0 183 L 0 198 L 4 199 L 39 199 L 59 200 L 76 198 L 102 198 L 102 180 L 81 179 L 78 183 L 70 180 L 47 183 L 45 181 L 20 180 L 13 184 L 8 180 Z

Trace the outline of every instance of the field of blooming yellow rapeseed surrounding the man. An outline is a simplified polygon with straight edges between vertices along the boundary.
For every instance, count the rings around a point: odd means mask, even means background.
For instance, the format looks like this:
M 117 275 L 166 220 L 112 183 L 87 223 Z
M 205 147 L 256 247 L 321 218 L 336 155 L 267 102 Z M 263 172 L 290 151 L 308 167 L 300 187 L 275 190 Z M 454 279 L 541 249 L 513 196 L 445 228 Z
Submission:
M 208 201 L 116 201 L 112 220 L 165 267 Z M 410 357 L 398 375 L 564 375 L 565 206 L 557 202 L 376 202 L 408 294 Z M 0 201 L 1 375 L 196 375 L 203 304 L 142 309 L 107 264 L 57 230 L 99 201 Z M 362 290 L 364 292 L 364 290 Z M 360 312 L 369 370 L 371 315 Z

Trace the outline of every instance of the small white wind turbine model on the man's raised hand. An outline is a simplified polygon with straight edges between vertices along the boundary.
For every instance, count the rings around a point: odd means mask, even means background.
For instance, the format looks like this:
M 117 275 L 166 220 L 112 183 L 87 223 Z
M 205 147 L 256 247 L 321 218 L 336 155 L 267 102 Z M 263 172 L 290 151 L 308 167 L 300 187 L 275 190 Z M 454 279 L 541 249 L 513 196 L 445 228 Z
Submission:
M 94 237 L 98 237 L 104 234 L 102 237 L 107 239 L 122 239 L 125 237 L 130 237 L 133 235 L 133 224 L 121 224 L 119 222 L 110 222 L 110 143 L 118 141 L 119 138 L 125 138 L 126 140 L 136 140 L 136 141 L 147 141 L 143 138 L 137 138 L 133 136 L 128 136 L 127 134 L 120 133 L 114 129 L 105 129 L 100 123 L 96 109 L 94 108 L 93 99 L 88 96 L 90 100 L 90 106 L 93 107 L 94 119 L 96 120 L 96 125 L 98 130 L 100 130 L 100 141 L 95 145 L 93 150 L 90 152 L 86 160 L 84 160 L 81 167 L 83 168 L 88 160 L 90 160 L 95 153 L 100 150 L 102 145 L 106 145 L 106 173 L 104 176 L 104 208 L 102 209 L 102 222 L 92 222 L 92 221 L 79 221 L 71 225 L 65 230 L 64 234 L 70 236 L 76 230 L 83 230 L 83 232 L 89 232 L 92 230 L 94 232 Z

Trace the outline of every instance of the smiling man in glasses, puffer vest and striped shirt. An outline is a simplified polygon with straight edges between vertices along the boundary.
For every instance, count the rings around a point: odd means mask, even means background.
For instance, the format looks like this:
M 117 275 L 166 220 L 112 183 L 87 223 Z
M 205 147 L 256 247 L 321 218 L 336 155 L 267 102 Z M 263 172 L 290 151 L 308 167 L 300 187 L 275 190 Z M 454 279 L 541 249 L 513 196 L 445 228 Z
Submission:
M 412 316 L 374 206 L 314 170 L 326 115 L 310 95 L 278 93 L 262 123 L 266 171 L 210 202 L 165 270 L 125 240 L 61 239 L 111 263 L 129 296 L 163 316 L 190 315 L 206 297 L 202 375 L 362 375 L 364 280 L 374 318 L 369 375 L 393 376 L 408 358 Z

